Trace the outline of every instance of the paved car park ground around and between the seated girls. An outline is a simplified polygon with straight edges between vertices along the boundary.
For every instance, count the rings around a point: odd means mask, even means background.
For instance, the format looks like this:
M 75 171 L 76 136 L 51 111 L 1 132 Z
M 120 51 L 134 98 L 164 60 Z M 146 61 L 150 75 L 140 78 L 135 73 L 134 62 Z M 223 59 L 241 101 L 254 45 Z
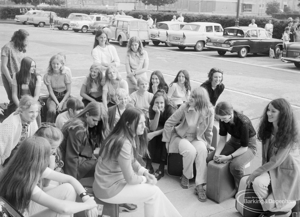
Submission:
M 71 94 L 79 97 L 82 77 L 88 74 L 91 65 L 91 48 L 94 37 L 91 33 L 74 33 L 68 31 L 50 31 L 49 28 L 35 28 L 32 26 L 1 24 L 0 47 L 10 40 L 13 32 L 19 28 L 29 31 L 28 56 L 37 63 L 37 70 L 44 75 L 49 59 L 58 52 L 67 55 L 66 65 L 72 70 L 73 82 Z M 119 71 L 125 77 L 126 48 L 121 48 L 116 42 L 111 42 L 117 49 L 121 59 Z M 152 43 L 145 47 L 150 57 L 148 77 L 154 70 L 161 70 L 169 84 L 180 69 L 186 68 L 190 73 L 192 88 L 199 86 L 207 79 L 207 72 L 212 67 L 224 70 L 225 90 L 219 100 L 232 102 L 238 110 L 244 111 L 252 121 L 253 126 L 258 126 L 259 117 L 267 103 L 275 98 L 287 98 L 300 120 L 300 94 L 298 90 L 300 71 L 293 64 L 270 59 L 265 55 L 248 55 L 247 58 L 238 58 L 236 54 L 218 56 L 215 51 L 207 49 L 194 52 L 192 48 L 179 51 L 177 47 L 166 48 L 162 44 L 154 46 Z M 47 94 L 46 86 L 41 89 L 42 94 Z M 80 97 L 79 97 L 80 98 Z M 80 98 L 81 99 L 81 98 Z M 7 102 L 6 93 L 0 81 L 0 103 Z M 261 163 L 261 146 L 252 161 L 256 169 Z M 155 164 L 158 169 L 158 164 Z M 180 178 L 167 175 L 158 181 L 158 186 L 179 210 L 184 217 L 199 216 L 241 216 L 235 210 L 235 199 L 230 198 L 220 204 L 211 201 L 202 203 L 193 195 L 194 181 L 190 181 L 189 189 L 182 189 Z M 143 216 L 143 204 L 138 204 L 139 209 L 134 213 L 121 213 L 120 216 Z

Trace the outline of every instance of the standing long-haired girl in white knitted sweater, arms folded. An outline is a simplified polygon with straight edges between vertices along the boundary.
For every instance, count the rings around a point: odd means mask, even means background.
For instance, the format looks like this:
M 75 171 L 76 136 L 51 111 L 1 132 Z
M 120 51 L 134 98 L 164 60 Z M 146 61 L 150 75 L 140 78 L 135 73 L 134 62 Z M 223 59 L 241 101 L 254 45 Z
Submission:
M 116 48 L 110 45 L 107 40 L 107 34 L 102 30 L 97 30 L 95 34 L 95 42 L 92 50 L 93 62 L 100 63 L 103 66 L 103 71 L 108 66 L 120 66 L 120 59 Z

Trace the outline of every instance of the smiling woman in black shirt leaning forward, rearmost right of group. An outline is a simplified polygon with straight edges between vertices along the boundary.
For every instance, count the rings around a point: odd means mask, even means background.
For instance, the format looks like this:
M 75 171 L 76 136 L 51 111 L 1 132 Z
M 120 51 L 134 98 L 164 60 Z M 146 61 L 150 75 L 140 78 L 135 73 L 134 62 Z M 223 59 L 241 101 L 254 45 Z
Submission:
M 208 72 L 208 80 L 201 84 L 201 87 L 204 87 L 209 95 L 209 100 L 213 106 L 216 105 L 216 102 L 223 92 L 225 86 L 222 83 L 223 81 L 223 70 L 220 68 L 212 68 Z

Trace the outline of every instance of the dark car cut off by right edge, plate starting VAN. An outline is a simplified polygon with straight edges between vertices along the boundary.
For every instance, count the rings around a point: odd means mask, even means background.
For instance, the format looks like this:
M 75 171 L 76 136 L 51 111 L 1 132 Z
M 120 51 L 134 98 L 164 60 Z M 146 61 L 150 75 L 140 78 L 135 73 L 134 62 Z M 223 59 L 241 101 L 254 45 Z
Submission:
M 284 43 L 282 60 L 293 62 L 297 68 L 300 68 L 300 43 Z

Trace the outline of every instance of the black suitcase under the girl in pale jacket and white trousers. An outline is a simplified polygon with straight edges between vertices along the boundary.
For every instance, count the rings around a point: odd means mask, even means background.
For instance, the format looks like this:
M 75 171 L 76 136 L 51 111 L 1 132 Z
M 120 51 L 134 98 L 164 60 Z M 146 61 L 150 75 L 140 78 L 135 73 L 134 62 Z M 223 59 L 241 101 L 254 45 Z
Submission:
M 182 155 L 179 153 L 170 153 L 168 155 L 167 173 L 171 176 L 182 176 L 183 164 Z M 196 178 L 196 165 L 193 163 L 194 177 Z

